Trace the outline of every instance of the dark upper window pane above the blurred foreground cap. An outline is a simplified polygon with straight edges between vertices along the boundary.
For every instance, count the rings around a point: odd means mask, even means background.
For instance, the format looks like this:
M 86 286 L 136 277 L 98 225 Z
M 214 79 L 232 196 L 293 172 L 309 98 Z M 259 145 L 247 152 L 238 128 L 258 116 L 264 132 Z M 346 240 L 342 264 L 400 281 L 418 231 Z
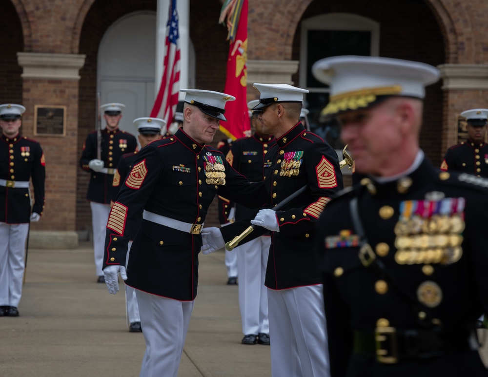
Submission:
M 312 65 L 320 59 L 339 55 L 369 56 L 371 32 L 346 30 L 308 30 L 307 88 L 327 88 L 312 75 Z

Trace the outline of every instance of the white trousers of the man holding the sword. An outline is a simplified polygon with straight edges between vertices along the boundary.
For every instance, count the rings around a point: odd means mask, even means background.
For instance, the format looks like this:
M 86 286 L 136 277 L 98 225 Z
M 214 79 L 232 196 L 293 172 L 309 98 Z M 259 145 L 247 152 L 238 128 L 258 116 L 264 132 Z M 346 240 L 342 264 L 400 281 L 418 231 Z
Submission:
M 272 377 L 328 377 L 323 286 L 268 289 Z

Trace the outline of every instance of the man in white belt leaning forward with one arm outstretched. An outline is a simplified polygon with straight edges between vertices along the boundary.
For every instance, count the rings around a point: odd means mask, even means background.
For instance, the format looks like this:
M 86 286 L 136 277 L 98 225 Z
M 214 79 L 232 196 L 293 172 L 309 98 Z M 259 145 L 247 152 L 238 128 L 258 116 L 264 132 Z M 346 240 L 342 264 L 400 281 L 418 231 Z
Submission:
M 216 195 L 252 205 L 265 191 L 237 173 L 211 146 L 224 106 L 234 97 L 205 90 L 185 93 L 184 123 L 174 136 L 138 153 L 107 223 L 104 274 L 111 293 L 125 275 L 131 232 L 139 222 L 125 283 L 136 289 L 146 342 L 141 376 L 174 376 L 198 287 L 201 228 Z

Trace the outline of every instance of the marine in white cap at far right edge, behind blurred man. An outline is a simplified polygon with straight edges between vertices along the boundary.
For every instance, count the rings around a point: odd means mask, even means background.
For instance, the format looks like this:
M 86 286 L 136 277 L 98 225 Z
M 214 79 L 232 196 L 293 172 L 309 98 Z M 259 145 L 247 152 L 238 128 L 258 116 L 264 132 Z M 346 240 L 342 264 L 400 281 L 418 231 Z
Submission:
M 441 170 L 458 171 L 488 178 L 488 109 L 471 109 L 461 113 L 466 118 L 468 140 L 447 150 Z

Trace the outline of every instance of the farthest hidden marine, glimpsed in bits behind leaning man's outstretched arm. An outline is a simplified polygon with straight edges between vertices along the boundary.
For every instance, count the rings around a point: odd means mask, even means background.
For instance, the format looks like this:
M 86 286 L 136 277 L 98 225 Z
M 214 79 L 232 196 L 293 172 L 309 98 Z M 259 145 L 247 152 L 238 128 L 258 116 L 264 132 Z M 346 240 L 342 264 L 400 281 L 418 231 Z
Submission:
M 217 143 L 217 149 L 221 151 L 224 156 L 230 151 L 232 146 L 232 139 L 222 139 Z M 220 226 L 228 225 L 235 221 L 236 210 L 234 203 L 229 199 L 223 198 L 220 195 L 217 197 L 217 213 L 219 215 Z M 227 285 L 237 284 L 237 254 L 225 250 L 225 268 L 227 270 Z

